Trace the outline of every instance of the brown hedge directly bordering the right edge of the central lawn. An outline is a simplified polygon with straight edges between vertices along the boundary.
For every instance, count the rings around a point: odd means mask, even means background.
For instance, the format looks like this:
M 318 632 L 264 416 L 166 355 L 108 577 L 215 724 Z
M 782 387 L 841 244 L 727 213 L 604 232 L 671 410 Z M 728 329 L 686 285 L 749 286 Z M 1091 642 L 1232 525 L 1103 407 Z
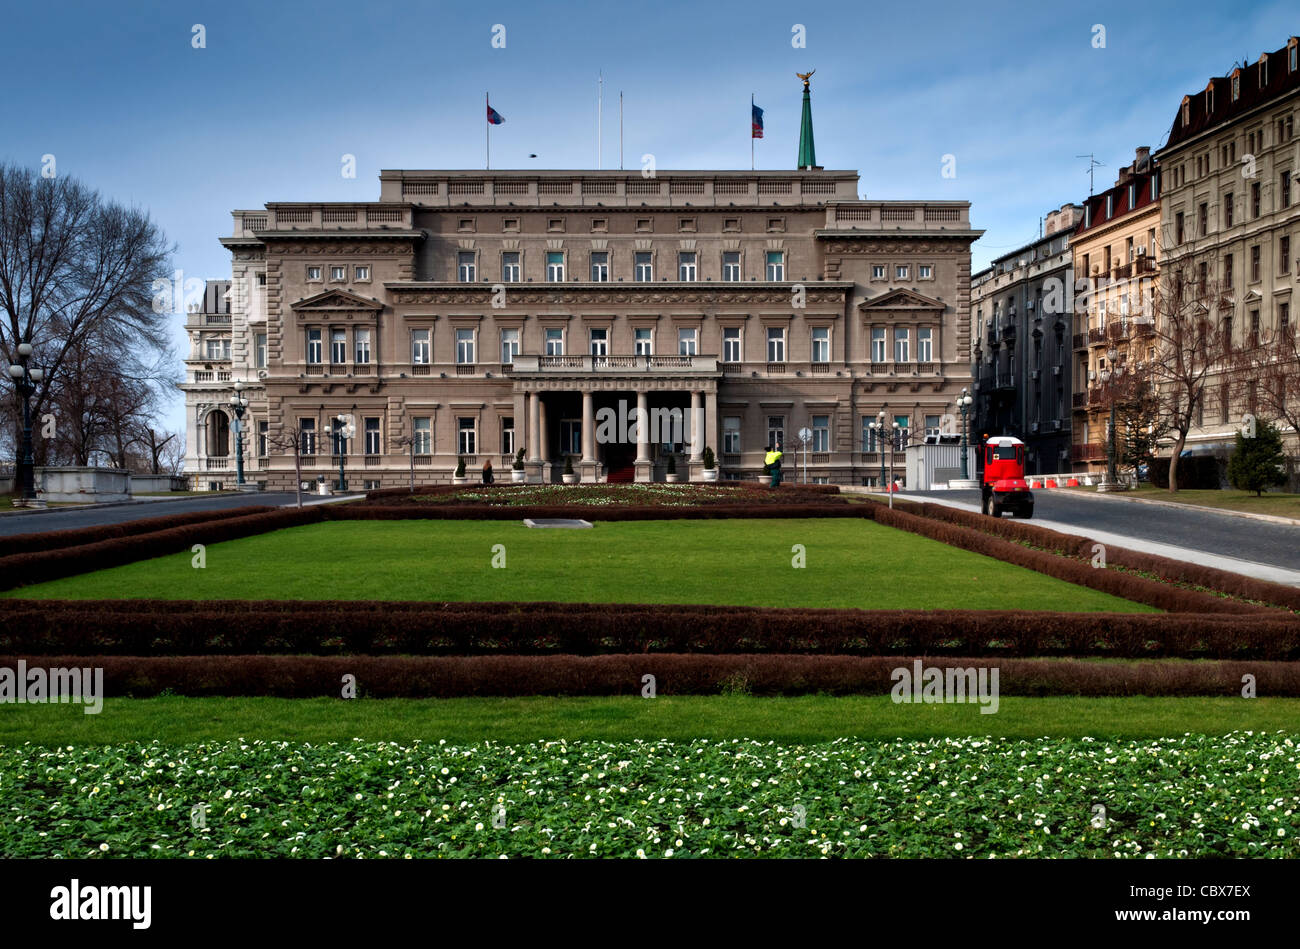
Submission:
M 910 530 L 954 547 L 970 550 L 975 554 L 984 554 L 1005 563 L 1045 573 L 1057 580 L 1088 586 L 1093 590 L 1145 603 L 1158 610 L 1169 612 L 1277 612 L 1265 606 L 1243 603 L 1238 599 L 1226 599 L 1197 590 L 1186 590 L 1132 573 L 1095 568 L 1091 563 L 1058 556 L 1044 550 L 1032 550 L 975 528 L 909 514 L 901 508 L 890 510 L 881 504 L 862 504 L 861 507 L 871 508 L 875 520 L 887 526 Z

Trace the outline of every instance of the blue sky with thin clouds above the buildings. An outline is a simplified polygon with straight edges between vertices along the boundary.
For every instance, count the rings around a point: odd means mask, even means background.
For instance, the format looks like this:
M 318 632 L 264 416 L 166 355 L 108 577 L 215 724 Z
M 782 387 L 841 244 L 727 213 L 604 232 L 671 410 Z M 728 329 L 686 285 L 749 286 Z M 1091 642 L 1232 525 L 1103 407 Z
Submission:
M 1164 144 L 1184 94 L 1295 34 L 1294 1 L 9 4 L 0 161 L 53 155 L 147 209 L 186 278 L 222 278 L 233 209 L 377 200 L 386 168 L 482 168 L 485 92 L 506 117 L 493 168 L 595 168 L 603 74 L 603 168 L 621 91 L 628 168 L 748 168 L 753 95 L 757 166 L 793 169 L 794 73 L 815 69 L 819 164 L 855 169 L 872 199 L 971 202 L 979 270 L 1088 195 L 1078 156 L 1109 187 Z M 181 393 L 166 420 L 183 425 Z

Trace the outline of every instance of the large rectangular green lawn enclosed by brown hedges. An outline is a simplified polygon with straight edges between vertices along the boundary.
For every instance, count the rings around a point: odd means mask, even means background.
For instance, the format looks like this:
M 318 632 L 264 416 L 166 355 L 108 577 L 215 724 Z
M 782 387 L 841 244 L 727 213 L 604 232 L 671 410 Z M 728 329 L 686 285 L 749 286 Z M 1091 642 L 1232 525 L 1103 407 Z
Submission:
M 332 521 L 216 543 L 205 558 L 203 569 L 182 552 L 6 595 L 1152 611 L 858 519 L 602 521 L 590 530 Z

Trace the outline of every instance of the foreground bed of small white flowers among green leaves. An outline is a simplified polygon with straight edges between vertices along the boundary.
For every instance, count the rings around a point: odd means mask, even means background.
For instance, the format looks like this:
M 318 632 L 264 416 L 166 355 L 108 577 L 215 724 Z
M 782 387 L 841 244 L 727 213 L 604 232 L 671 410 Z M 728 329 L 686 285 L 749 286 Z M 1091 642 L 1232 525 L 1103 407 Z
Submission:
M 1294 859 L 1297 767 L 1292 737 L 1251 732 L 20 745 L 0 855 Z

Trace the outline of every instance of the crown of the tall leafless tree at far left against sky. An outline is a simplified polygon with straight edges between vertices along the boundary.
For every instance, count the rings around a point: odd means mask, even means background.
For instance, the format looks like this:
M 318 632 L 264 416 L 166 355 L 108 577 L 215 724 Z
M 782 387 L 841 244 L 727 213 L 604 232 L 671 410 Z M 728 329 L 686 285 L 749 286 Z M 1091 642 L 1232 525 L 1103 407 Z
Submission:
M 146 212 L 74 178 L 0 164 L 0 354 L 16 361 L 17 344 L 31 342 L 46 370 L 34 417 L 87 344 L 117 364 L 169 352 L 169 311 L 153 306 L 153 289 L 172 252 Z

